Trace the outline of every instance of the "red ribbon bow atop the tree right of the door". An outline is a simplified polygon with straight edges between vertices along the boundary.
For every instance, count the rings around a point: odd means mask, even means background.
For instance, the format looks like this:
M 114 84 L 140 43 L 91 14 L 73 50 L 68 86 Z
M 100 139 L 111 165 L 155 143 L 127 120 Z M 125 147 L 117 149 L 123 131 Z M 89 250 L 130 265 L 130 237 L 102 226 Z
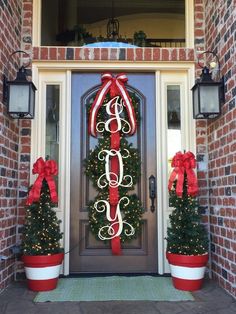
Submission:
M 176 195 L 182 197 L 183 195 L 183 183 L 184 183 L 184 174 L 187 175 L 187 193 L 190 196 L 196 196 L 198 193 L 198 183 L 195 172 L 193 171 L 196 168 L 196 159 L 192 152 L 187 152 L 182 154 L 178 152 L 175 154 L 171 167 L 174 168 L 170 175 L 168 189 L 172 189 L 173 183 L 176 182 Z

